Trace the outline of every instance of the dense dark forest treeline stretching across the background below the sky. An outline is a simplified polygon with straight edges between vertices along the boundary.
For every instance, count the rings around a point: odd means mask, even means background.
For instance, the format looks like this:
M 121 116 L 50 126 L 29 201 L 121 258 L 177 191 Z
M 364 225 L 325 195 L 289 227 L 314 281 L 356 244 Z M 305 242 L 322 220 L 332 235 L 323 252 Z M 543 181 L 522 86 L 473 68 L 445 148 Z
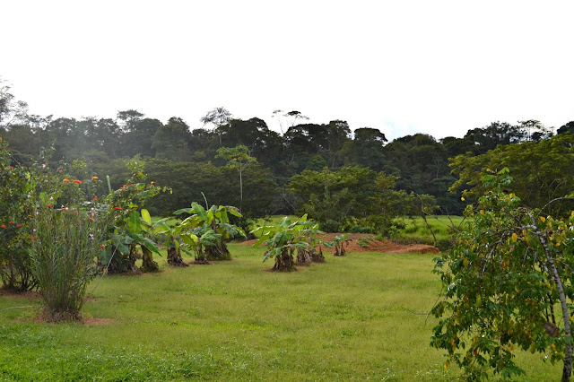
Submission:
M 370 197 L 366 190 L 380 192 L 380 187 L 431 197 L 436 213 L 460 214 L 465 206 L 460 192 L 472 184 L 472 179 L 461 177 L 468 177 L 463 168 L 471 158 L 483 158 L 483 166 L 497 147 L 520 143 L 526 150 L 554 135 L 552 128 L 527 120 L 516 125 L 492 122 L 463 138 L 415 134 L 388 142 L 376 128 L 352 131 L 342 120 L 311 124 L 299 111 L 281 110 L 274 117 L 282 134 L 260 117 L 239 119 L 224 108 L 206 112 L 196 126 L 179 117 L 162 123 L 137 110 L 101 118 L 40 117 L 31 115 L 26 103 L 15 100 L 10 87 L 0 83 L 0 136 L 10 144 L 16 163 L 28 165 L 42 148 L 53 147 L 54 163 L 85 161 L 90 174 L 109 176 L 117 188 L 129 176 L 127 161 L 143 161 L 148 180 L 173 190 L 153 201 L 152 213 L 157 214 L 203 200 L 202 193 L 209 203 L 241 205 L 249 217 L 298 213 L 303 205 L 312 210 L 313 198 L 319 212 L 326 197 L 354 197 L 345 205 L 361 210 L 358 205 Z M 574 121 L 561 126 L 557 135 L 573 131 Z M 242 156 L 224 154 L 222 148 L 239 148 Z M 335 176 L 344 171 L 347 176 Z M 313 177 L 313 192 L 306 191 L 302 183 Z M 339 213 L 352 215 L 349 208 Z

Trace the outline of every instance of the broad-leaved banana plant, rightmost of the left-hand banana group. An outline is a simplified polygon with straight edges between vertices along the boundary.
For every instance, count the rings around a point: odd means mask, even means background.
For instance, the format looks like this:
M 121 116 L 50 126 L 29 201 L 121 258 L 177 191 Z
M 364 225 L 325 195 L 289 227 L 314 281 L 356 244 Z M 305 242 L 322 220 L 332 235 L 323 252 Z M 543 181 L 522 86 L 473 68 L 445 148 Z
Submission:
M 201 204 L 194 202 L 191 204 L 191 208 L 182 208 L 174 214 L 179 215 L 181 213 L 191 214 L 181 222 L 182 231 L 197 230 L 206 225 L 213 230 L 214 234 L 219 235 L 219 240 L 213 240 L 211 241 L 213 244 L 204 246 L 204 256 L 207 260 L 230 260 L 230 251 L 225 241 L 238 236 L 245 237 L 243 230 L 230 223 L 229 215 L 239 218 L 243 216 L 236 207 L 231 205 L 212 205 L 206 210 Z M 204 232 L 204 230 L 197 230 L 197 232 Z

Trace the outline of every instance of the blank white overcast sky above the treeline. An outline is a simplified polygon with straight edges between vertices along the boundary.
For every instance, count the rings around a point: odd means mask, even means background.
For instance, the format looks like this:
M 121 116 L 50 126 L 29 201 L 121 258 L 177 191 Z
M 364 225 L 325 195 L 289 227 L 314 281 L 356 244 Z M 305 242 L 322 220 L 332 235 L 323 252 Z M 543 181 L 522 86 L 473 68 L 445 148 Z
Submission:
M 570 1 L 7 1 L 0 76 L 30 111 L 215 107 L 346 120 L 387 138 L 574 120 Z

